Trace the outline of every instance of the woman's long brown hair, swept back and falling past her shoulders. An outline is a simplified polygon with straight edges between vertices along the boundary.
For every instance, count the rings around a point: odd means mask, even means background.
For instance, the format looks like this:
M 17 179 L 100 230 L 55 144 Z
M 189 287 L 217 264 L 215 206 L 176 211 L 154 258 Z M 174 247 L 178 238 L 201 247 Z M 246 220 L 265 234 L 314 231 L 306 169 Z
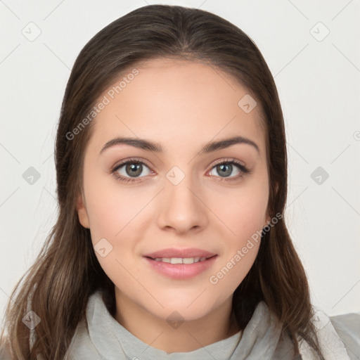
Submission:
M 283 113 L 274 78 L 255 43 L 217 15 L 196 8 L 150 5 L 131 11 L 98 32 L 79 53 L 63 98 L 56 135 L 58 219 L 34 264 L 18 281 L 6 308 L 7 342 L 16 359 L 64 359 L 89 296 L 103 289 L 115 314 L 112 281 L 101 268 L 89 229 L 77 217 L 86 143 L 96 119 L 69 134 L 91 112 L 99 96 L 120 76 L 152 58 L 200 61 L 231 75 L 261 105 L 269 170 L 269 216 L 283 214 L 287 196 L 287 153 Z M 22 283 L 23 281 L 23 283 Z M 263 233 L 255 263 L 233 294 L 233 316 L 240 330 L 256 305 L 266 302 L 283 323 L 298 353 L 300 336 L 321 354 L 311 323 L 309 286 L 285 221 Z M 29 306 L 30 304 L 30 306 Z M 29 310 L 41 322 L 30 330 Z M 4 330 L 2 340 L 5 341 Z

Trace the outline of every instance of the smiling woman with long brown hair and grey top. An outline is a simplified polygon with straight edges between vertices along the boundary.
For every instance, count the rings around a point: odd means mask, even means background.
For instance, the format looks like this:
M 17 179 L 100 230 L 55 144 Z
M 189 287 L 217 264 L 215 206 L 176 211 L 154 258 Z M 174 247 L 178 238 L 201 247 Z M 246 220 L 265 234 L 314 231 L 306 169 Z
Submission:
M 56 173 L 9 359 L 349 359 L 283 219 L 274 79 L 235 25 L 153 5 L 98 32 L 65 91 Z

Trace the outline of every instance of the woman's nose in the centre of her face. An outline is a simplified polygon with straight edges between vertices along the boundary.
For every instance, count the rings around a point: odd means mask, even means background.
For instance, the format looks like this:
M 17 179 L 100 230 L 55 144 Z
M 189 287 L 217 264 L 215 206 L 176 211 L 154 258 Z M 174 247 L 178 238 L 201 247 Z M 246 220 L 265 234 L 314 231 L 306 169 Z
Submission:
M 208 211 L 200 184 L 185 176 L 179 184 L 165 179 L 165 188 L 159 199 L 158 226 L 181 234 L 200 231 L 208 222 Z

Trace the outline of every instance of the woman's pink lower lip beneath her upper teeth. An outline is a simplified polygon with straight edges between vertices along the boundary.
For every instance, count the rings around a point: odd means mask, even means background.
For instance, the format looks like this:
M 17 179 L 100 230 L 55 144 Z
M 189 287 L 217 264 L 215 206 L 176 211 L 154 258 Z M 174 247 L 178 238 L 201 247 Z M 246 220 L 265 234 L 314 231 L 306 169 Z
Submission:
M 193 264 L 170 264 L 169 262 L 157 262 L 150 257 L 144 257 L 148 264 L 160 274 L 169 278 L 184 280 L 193 278 L 207 269 L 209 269 L 217 259 L 217 255 L 204 260 L 203 262 L 194 262 Z

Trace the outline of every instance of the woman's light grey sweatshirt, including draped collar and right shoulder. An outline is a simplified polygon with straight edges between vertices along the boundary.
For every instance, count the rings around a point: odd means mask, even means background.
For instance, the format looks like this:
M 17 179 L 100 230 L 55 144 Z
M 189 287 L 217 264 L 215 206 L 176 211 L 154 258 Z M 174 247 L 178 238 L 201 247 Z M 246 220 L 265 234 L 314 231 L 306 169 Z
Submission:
M 314 319 L 314 324 L 318 329 L 319 342 L 326 360 L 359 360 L 360 314 L 333 316 L 331 321 L 325 314 L 321 314 L 318 319 Z M 86 319 L 78 324 L 65 360 L 318 359 L 307 343 L 301 340 L 300 354 L 295 358 L 290 338 L 281 338 L 281 327 L 264 302 L 257 304 L 243 335 L 239 332 L 191 352 L 168 354 L 139 340 L 118 323 L 106 308 L 101 290 L 97 290 L 89 298 Z M 12 359 L 0 351 L 0 360 Z

